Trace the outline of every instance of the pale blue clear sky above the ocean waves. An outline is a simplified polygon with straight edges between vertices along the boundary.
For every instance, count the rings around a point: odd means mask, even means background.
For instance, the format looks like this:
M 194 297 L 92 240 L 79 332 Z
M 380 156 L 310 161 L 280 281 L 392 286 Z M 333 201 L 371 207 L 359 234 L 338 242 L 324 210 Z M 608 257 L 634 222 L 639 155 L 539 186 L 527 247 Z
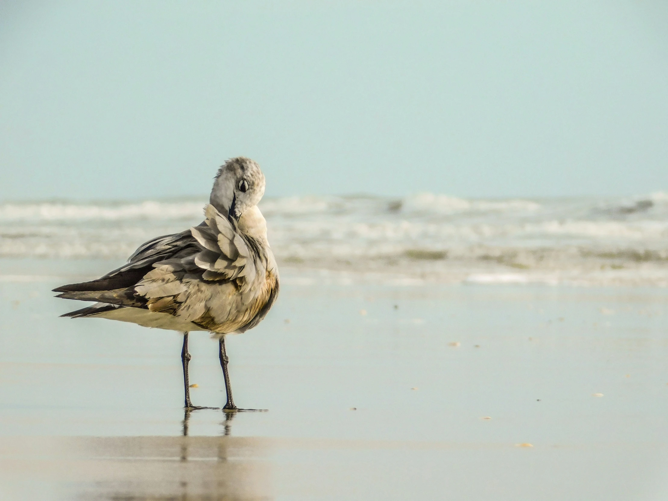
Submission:
M 662 1 L 0 3 L 0 200 L 668 190 Z

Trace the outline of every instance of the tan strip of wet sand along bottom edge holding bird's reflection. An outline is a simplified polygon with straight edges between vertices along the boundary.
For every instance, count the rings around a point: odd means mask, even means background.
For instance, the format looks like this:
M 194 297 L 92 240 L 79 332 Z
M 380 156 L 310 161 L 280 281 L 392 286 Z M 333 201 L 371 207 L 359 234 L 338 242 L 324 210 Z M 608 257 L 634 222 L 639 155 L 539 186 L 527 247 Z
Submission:
M 627 482 L 663 447 L 638 445 L 12 437 L 1 442 L 0 479 L 4 499 L 622 499 L 647 491 Z M 622 478 L 608 476 L 622 466 Z

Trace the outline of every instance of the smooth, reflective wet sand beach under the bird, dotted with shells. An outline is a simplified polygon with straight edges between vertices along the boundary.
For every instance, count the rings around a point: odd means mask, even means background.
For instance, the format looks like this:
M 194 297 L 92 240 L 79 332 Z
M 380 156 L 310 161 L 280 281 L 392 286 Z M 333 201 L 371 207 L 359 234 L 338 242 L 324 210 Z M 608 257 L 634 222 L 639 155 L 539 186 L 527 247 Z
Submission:
M 284 272 L 228 340 L 269 411 L 184 415 L 179 335 L 57 318 L 52 287 L 115 263 L 28 264 L 0 263 L 3 500 L 668 496 L 666 289 Z M 196 405 L 224 402 L 216 348 L 191 336 Z

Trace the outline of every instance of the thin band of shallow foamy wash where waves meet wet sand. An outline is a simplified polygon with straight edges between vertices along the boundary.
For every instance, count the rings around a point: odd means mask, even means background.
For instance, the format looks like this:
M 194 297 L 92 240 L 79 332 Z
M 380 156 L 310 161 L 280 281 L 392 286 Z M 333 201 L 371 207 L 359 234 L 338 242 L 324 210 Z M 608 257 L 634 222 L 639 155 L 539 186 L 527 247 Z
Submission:
M 85 281 L 98 278 L 124 264 L 120 259 L 0 258 L 0 283 Z M 461 263 L 415 263 L 360 266 L 341 264 L 321 267 L 304 263 L 299 267 L 279 261 L 281 283 L 290 285 L 549 285 L 559 287 L 668 287 L 668 265 L 604 269 L 518 269 L 484 263 L 462 267 Z M 57 273 L 54 273 L 57 271 Z

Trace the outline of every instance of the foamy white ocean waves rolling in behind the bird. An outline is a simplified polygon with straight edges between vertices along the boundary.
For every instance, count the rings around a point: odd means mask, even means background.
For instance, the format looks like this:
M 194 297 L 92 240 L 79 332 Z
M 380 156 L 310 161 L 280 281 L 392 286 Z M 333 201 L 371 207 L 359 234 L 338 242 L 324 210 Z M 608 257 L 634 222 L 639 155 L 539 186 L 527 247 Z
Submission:
M 126 259 L 202 220 L 206 197 L 0 204 L 0 258 Z M 282 269 L 349 280 L 668 285 L 668 193 L 480 200 L 265 198 Z

